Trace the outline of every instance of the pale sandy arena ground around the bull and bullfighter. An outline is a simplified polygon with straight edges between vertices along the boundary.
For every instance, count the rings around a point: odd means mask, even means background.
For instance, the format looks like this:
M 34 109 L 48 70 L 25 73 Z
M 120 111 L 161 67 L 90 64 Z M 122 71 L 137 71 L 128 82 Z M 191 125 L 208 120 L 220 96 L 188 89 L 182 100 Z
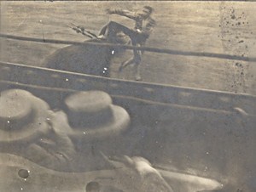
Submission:
M 1 32 L 26 37 L 84 41 L 70 22 L 98 32 L 110 18 L 105 9 L 154 7 L 157 26 L 148 47 L 255 57 L 256 3 L 245 2 L 1 2 Z M 44 66 L 43 60 L 63 45 L 0 39 L 1 60 Z M 131 54 L 127 51 L 125 57 Z M 134 79 L 132 67 L 111 76 Z M 145 82 L 235 93 L 256 93 L 255 62 L 145 53 Z

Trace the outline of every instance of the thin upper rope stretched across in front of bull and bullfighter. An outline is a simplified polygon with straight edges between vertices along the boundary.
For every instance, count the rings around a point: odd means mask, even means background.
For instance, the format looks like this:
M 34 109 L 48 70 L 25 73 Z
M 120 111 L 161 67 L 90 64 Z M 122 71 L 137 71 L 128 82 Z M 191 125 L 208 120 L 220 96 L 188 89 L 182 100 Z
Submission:
M 0 34 L 0 37 L 20 40 L 20 41 L 29 41 L 29 42 L 72 44 L 72 45 L 87 44 L 87 45 L 95 45 L 95 46 L 102 46 L 102 47 L 141 50 L 141 51 L 154 52 L 154 53 L 159 53 L 159 54 L 200 56 L 200 57 L 207 57 L 207 58 L 230 59 L 230 60 L 241 60 L 241 61 L 251 61 L 251 62 L 256 61 L 255 57 L 245 57 L 245 56 L 238 56 L 238 55 L 231 55 L 231 54 L 214 54 L 214 53 L 207 53 L 207 52 L 177 51 L 177 50 L 172 50 L 172 49 L 168 49 L 168 48 L 137 47 L 137 46 L 131 46 L 131 45 L 102 42 L 101 40 L 98 40 L 99 42 L 73 42 L 73 41 L 63 41 L 63 40 L 55 40 L 55 39 L 42 39 L 42 38 L 35 38 L 35 37 L 19 37 L 19 36 L 14 36 L 14 35 L 7 35 L 7 34 Z

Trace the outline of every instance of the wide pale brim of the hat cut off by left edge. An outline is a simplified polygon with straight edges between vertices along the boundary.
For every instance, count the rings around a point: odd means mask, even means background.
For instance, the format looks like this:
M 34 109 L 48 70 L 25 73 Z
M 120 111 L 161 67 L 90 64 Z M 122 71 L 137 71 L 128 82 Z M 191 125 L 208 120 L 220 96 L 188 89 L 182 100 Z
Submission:
M 23 99 L 29 99 L 32 104 L 33 119 L 26 126 L 20 127 L 20 129 L 10 131 L 0 128 L 0 143 L 21 144 L 32 142 L 49 131 L 49 125 L 46 122 L 46 118 L 49 116 L 49 105 L 44 100 L 32 95 L 32 93 L 20 89 L 3 91 L 1 95 L 2 97 L 4 95 L 8 97 L 8 93 L 12 91 L 15 91 Z

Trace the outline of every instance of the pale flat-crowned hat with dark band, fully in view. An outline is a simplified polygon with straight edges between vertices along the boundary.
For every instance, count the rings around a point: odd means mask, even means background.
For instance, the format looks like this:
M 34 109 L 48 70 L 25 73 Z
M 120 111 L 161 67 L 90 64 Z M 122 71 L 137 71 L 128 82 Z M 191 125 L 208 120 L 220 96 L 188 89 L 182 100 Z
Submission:
M 127 111 L 112 104 L 108 93 L 87 91 L 73 93 L 65 99 L 65 113 L 58 113 L 58 121 L 69 127 L 59 128 L 72 138 L 102 138 L 124 131 L 130 123 Z

